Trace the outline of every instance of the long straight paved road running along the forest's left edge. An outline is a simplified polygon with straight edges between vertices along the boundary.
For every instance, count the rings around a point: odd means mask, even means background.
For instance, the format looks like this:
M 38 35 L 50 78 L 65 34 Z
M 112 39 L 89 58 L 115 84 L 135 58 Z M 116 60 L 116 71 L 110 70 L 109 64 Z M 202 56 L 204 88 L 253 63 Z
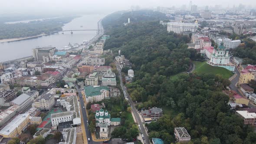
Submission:
M 120 69 L 120 67 L 118 66 L 118 64 L 116 62 L 115 62 L 115 65 L 117 66 L 118 69 Z M 148 139 L 148 134 L 147 134 L 147 132 L 146 132 L 144 126 L 143 126 L 143 123 L 142 123 L 141 118 L 140 118 L 140 116 L 137 112 L 137 109 L 135 108 L 135 103 L 131 100 L 130 95 L 128 94 L 128 92 L 125 89 L 125 86 L 124 86 L 123 81 L 122 81 L 121 72 L 119 70 L 118 70 L 118 73 L 119 73 L 118 76 L 119 76 L 119 79 L 120 79 L 120 82 L 121 82 L 121 88 L 122 88 L 123 91 L 125 91 L 125 93 L 127 95 L 127 98 L 128 98 L 128 101 L 131 105 L 132 112 L 135 116 L 135 119 L 136 119 L 137 123 L 141 126 L 140 132 L 141 132 L 141 134 L 144 135 L 143 140 L 146 141 L 146 144 L 150 144 L 149 139 Z

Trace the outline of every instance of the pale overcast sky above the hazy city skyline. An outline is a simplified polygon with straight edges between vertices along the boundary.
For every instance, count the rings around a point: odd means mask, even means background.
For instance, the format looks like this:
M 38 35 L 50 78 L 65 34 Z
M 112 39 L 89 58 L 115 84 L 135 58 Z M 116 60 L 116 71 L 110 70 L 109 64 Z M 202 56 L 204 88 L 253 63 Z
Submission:
M 0 13 L 97 12 L 128 10 L 132 5 L 144 7 L 188 6 L 190 0 L 0 0 Z M 256 7 L 256 0 L 192 0 L 200 6 L 238 6 L 240 3 Z

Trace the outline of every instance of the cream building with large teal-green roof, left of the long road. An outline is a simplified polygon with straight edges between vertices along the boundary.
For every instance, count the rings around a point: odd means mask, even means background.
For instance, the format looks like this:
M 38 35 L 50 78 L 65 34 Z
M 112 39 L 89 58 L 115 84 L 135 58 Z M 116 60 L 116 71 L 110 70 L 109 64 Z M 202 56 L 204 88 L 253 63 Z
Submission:
M 107 86 L 85 86 L 85 98 L 87 102 L 102 101 L 109 98 L 109 91 Z

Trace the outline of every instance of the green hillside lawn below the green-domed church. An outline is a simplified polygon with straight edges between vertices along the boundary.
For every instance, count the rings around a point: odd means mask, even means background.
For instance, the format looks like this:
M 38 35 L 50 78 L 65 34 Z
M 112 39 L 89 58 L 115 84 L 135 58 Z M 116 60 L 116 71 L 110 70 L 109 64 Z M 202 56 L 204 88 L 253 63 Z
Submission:
M 212 66 L 207 64 L 207 62 L 198 62 L 193 61 L 196 65 L 196 69 L 193 72 L 197 73 L 214 73 L 214 74 L 221 74 L 224 78 L 228 79 L 230 76 L 233 75 L 233 72 L 218 66 Z

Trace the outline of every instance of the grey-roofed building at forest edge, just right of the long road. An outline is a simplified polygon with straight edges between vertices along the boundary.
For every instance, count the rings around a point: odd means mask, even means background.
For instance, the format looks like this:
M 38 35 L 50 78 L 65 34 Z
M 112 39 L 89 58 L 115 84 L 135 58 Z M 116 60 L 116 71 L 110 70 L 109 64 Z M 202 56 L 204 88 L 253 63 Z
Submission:
M 141 111 L 141 115 L 143 118 L 151 118 L 151 120 L 158 120 L 163 116 L 163 110 L 161 108 L 153 107 L 149 108 L 149 110 Z

